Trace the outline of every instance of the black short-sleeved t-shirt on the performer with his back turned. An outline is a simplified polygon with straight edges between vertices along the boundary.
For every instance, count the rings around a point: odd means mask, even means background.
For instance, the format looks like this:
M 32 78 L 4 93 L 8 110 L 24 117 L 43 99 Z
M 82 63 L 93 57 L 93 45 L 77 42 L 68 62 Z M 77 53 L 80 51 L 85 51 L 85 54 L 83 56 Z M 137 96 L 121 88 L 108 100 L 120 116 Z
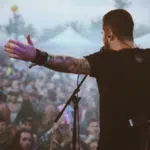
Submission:
M 85 58 L 100 92 L 100 149 L 137 149 L 129 119 L 150 113 L 150 49 L 104 50 Z

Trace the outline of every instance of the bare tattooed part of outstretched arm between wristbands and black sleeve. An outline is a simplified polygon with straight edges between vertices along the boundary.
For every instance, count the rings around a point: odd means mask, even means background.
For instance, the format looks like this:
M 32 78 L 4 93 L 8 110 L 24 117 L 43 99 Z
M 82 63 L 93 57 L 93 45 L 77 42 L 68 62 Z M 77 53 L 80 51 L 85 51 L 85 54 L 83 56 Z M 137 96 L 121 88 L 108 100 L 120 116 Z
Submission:
M 73 58 L 70 56 L 50 55 L 50 61 L 45 67 L 55 71 L 75 74 L 89 74 L 90 64 L 84 58 Z

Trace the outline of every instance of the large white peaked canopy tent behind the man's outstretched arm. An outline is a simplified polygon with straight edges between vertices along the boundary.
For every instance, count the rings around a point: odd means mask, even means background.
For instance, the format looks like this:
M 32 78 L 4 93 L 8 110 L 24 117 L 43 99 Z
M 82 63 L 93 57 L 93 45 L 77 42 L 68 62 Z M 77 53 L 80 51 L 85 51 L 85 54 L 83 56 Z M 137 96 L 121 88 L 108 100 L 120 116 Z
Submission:
M 99 46 L 80 36 L 72 27 L 40 44 L 45 51 L 64 55 L 82 56 L 99 50 Z

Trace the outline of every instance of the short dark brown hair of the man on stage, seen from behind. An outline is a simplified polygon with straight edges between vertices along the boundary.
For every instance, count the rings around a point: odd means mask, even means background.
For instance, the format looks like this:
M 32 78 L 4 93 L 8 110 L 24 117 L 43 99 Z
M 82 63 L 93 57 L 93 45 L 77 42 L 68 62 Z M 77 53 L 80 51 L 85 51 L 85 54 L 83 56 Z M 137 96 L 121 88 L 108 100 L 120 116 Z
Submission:
M 124 9 L 109 11 L 103 17 L 103 29 L 110 27 L 119 40 L 133 40 L 134 21 L 129 12 Z

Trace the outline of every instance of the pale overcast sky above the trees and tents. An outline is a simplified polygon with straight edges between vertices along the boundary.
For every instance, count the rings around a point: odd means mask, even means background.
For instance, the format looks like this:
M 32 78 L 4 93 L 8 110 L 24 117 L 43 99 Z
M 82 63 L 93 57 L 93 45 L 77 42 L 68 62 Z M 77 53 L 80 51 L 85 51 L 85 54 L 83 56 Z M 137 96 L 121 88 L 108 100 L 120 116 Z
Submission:
M 114 9 L 113 0 L 0 0 L 0 24 L 7 23 L 13 4 L 18 5 L 19 13 L 37 28 L 51 27 L 70 20 L 86 24 Z M 149 0 L 132 0 L 128 10 L 135 22 L 150 25 L 149 8 Z

